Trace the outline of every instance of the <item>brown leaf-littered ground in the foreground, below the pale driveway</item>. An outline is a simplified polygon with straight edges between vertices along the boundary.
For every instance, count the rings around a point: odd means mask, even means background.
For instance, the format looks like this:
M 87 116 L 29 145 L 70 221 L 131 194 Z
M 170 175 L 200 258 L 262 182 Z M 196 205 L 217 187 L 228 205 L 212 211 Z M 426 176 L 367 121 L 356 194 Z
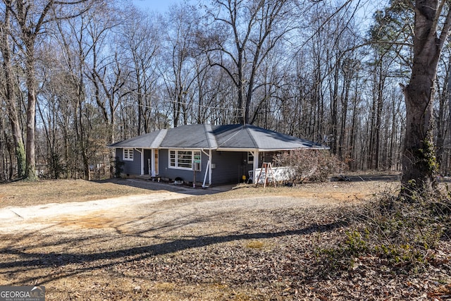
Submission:
M 318 193 L 330 187 L 320 188 Z M 231 193 L 244 202 L 258 191 Z M 221 195 L 167 206 L 202 202 L 214 206 Z M 324 274 L 330 266 L 321 250 L 347 240 L 350 211 L 357 209 L 358 203 L 211 208 L 164 223 L 154 223 L 155 211 L 133 221 L 92 221 L 97 227 L 80 223 L 2 235 L 0 283 L 45 285 L 47 300 L 445 300 L 451 295 L 449 241 L 440 242 L 433 250 L 437 261 L 417 273 L 362 254 L 340 273 Z

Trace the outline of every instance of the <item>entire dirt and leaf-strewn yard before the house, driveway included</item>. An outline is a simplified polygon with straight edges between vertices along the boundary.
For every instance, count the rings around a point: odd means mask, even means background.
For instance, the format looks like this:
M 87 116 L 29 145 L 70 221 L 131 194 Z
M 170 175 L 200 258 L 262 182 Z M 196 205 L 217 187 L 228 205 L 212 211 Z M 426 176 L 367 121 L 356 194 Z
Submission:
M 46 300 L 397 299 L 395 283 L 312 282 L 310 265 L 345 232 L 344 208 L 397 185 L 385 176 L 265 189 L 0 185 L 0 285 L 44 285 Z

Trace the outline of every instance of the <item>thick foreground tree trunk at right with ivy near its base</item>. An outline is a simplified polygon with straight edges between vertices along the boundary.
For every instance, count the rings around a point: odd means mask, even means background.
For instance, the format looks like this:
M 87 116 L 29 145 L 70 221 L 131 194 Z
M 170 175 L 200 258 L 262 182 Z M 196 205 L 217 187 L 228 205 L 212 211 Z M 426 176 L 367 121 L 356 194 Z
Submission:
M 438 19 L 443 6 L 437 0 L 415 2 L 414 60 L 409 85 L 403 87 L 406 103 L 406 132 L 402 152 L 402 195 L 432 190 L 437 168 L 432 140 L 434 80 L 438 59 L 450 30 L 447 12 L 442 32 Z

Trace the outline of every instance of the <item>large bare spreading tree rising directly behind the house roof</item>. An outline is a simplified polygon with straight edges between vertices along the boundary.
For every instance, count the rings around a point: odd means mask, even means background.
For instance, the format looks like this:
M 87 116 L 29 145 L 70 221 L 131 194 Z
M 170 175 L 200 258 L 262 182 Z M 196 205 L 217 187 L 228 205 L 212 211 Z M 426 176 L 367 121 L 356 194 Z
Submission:
M 292 1 L 270 0 L 216 0 L 217 11 L 211 16 L 223 27 L 223 35 L 228 39 L 218 40 L 217 59 L 212 66 L 226 71 L 237 92 L 237 108 L 242 109 L 240 123 L 251 121 L 252 96 L 256 86 L 256 76 L 262 61 L 281 39 L 293 29 Z

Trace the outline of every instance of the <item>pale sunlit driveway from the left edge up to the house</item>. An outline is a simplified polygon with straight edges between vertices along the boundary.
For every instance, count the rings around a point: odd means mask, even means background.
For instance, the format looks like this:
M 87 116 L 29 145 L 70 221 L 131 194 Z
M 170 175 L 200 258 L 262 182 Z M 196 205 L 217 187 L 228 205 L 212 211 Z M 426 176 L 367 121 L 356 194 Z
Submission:
M 168 200 L 186 199 L 192 196 L 213 195 L 230 190 L 232 186 L 223 186 L 209 190 L 194 190 L 176 185 L 152 183 L 144 180 L 116 180 L 114 183 L 140 188 L 148 193 L 108 197 L 81 202 L 41 202 L 31 206 L 0 207 L 0 233 L 26 233 L 44 229 L 64 228 L 70 221 L 94 228 L 108 224 L 121 223 L 125 219 L 139 218 L 140 214 L 158 211 L 156 207 Z M 1 198 L 1 195 L 0 195 Z M 62 221 L 67 221 L 63 223 Z M 90 221 L 89 224 L 87 221 Z M 74 222 L 75 224 L 75 222 Z

